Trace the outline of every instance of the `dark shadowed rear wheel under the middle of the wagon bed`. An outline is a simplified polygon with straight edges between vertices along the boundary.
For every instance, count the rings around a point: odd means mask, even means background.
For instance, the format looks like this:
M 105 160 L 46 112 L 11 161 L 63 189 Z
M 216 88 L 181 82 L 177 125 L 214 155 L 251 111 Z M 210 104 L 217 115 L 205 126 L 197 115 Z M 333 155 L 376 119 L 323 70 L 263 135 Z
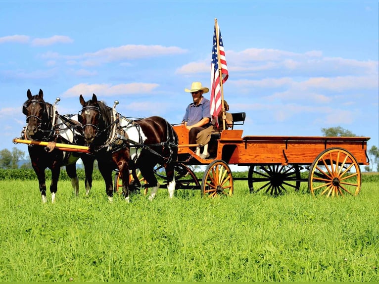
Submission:
M 263 189 L 271 195 L 279 195 L 286 189 L 300 189 L 300 169 L 298 165 L 251 165 L 247 182 L 251 193 Z

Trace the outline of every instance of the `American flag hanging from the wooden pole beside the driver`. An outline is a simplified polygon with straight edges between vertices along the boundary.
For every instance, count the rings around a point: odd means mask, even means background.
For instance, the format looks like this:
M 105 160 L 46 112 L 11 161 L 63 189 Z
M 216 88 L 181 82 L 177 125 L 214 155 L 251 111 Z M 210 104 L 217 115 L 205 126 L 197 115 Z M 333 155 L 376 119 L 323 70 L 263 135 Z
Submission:
M 216 27 L 219 35 L 219 48 L 220 48 L 220 65 L 217 60 L 217 39 L 216 39 Z M 221 68 L 222 83 L 225 83 L 229 77 L 228 67 L 226 65 L 224 45 L 221 37 L 220 28 L 215 24 L 215 30 L 213 33 L 213 48 L 212 48 L 212 63 L 211 63 L 211 116 L 212 120 L 217 117 L 221 111 L 221 87 L 220 87 L 220 75 L 219 68 Z M 218 126 L 218 120 L 216 119 L 216 125 Z

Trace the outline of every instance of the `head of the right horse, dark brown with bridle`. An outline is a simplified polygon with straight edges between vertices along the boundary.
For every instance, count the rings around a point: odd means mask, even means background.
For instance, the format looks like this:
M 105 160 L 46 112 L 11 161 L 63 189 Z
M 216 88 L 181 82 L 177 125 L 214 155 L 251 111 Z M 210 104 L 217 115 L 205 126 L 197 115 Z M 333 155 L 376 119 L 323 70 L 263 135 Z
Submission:
M 100 105 L 95 94 L 92 99 L 85 101 L 83 95 L 79 97 L 82 111 L 78 115 L 78 120 L 82 124 L 84 139 L 87 144 L 94 142 L 99 133 Z

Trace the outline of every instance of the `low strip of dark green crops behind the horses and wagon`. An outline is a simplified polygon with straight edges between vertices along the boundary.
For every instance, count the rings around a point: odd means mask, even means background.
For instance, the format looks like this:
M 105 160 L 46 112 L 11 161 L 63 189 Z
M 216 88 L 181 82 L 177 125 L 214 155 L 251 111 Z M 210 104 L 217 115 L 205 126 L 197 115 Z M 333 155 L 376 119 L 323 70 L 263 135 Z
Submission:
M 78 178 L 80 180 L 85 179 L 84 169 L 77 169 Z M 51 179 L 51 171 L 46 170 L 46 179 Z M 116 174 L 116 172 L 114 172 Z M 301 172 L 301 178 L 308 178 L 308 172 Z M 198 179 L 201 180 L 203 172 L 197 171 L 195 175 Z M 247 178 L 247 171 L 245 172 L 233 172 L 234 178 Z M 378 182 L 379 183 L 379 173 L 362 173 L 362 182 Z M 102 176 L 99 170 L 94 169 L 92 174 L 93 180 L 102 180 Z M 36 173 L 33 169 L 0 169 L 0 181 L 2 180 L 35 180 L 37 179 Z M 59 180 L 70 180 L 66 170 L 62 168 L 60 170 Z

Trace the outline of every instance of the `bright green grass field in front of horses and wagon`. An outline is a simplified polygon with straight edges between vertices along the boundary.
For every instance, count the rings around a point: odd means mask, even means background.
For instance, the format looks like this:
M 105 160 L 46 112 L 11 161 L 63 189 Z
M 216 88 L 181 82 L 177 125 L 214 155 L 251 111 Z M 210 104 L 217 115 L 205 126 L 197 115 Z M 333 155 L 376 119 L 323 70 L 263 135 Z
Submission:
M 49 183 L 47 183 L 49 184 Z M 235 182 L 233 197 L 160 189 L 107 202 L 60 181 L 0 181 L 0 282 L 378 282 L 379 188 L 357 197 L 271 197 Z

